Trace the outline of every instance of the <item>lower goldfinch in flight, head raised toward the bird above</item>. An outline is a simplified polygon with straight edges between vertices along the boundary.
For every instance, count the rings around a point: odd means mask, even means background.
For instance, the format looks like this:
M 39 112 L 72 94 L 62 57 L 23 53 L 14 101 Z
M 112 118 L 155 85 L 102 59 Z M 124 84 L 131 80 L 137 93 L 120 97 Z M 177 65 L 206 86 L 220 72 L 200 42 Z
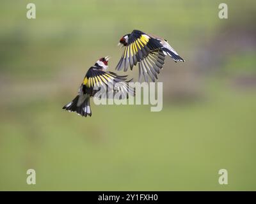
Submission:
M 90 108 L 90 97 L 95 96 L 102 87 L 113 87 L 109 92 L 122 92 L 128 97 L 128 94 L 134 95 L 134 89 L 126 81 L 127 76 L 119 76 L 111 71 L 106 71 L 108 69 L 109 57 L 100 58 L 94 66 L 88 69 L 83 83 L 78 89 L 78 94 L 70 103 L 63 106 L 63 109 L 69 112 L 77 112 L 78 115 L 86 117 L 87 115 L 92 115 L 92 110 Z M 102 90 L 101 90 L 102 91 Z M 103 95 L 102 95 L 103 96 Z M 108 97 L 108 95 L 105 95 Z

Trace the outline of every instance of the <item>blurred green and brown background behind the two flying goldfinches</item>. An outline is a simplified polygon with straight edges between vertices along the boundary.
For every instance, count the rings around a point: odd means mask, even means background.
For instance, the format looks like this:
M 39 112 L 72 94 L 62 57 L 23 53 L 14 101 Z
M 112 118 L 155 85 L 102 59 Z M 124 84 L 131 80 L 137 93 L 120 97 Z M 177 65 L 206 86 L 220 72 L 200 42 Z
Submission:
M 256 2 L 225 1 L 228 19 L 220 3 L 2 0 L 0 190 L 256 190 Z M 115 70 L 116 45 L 133 29 L 163 36 L 186 60 L 166 59 L 163 110 L 63 111 L 99 57 L 111 55 Z M 228 185 L 218 184 L 222 168 Z

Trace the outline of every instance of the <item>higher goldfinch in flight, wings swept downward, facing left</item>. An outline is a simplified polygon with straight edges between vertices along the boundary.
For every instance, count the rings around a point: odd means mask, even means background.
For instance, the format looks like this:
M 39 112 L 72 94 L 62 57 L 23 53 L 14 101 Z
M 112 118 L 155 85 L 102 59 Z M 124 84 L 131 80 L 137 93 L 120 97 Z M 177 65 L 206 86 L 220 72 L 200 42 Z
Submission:
M 116 69 L 120 71 L 124 68 L 124 71 L 127 71 L 130 66 L 132 70 L 132 67 L 138 63 L 139 81 L 143 75 L 146 82 L 148 76 L 155 82 L 157 74 L 163 68 L 166 55 L 172 57 L 175 62 L 184 62 L 167 40 L 142 31 L 134 30 L 131 34 L 125 34 L 118 45 L 124 45 L 125 50 Z

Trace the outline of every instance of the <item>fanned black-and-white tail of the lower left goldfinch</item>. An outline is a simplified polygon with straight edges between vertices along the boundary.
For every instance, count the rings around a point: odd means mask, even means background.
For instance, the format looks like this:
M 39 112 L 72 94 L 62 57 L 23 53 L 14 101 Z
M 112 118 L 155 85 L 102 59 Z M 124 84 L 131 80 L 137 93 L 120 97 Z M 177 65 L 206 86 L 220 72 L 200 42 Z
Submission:
M 90 96 L 77 95 L 70 103 L 65 105 L 62 109 L 69 112 L 77 112 L 78 115 L 86 117 L 87 115 L 92 115 L 92 110 L 90 107 Z

